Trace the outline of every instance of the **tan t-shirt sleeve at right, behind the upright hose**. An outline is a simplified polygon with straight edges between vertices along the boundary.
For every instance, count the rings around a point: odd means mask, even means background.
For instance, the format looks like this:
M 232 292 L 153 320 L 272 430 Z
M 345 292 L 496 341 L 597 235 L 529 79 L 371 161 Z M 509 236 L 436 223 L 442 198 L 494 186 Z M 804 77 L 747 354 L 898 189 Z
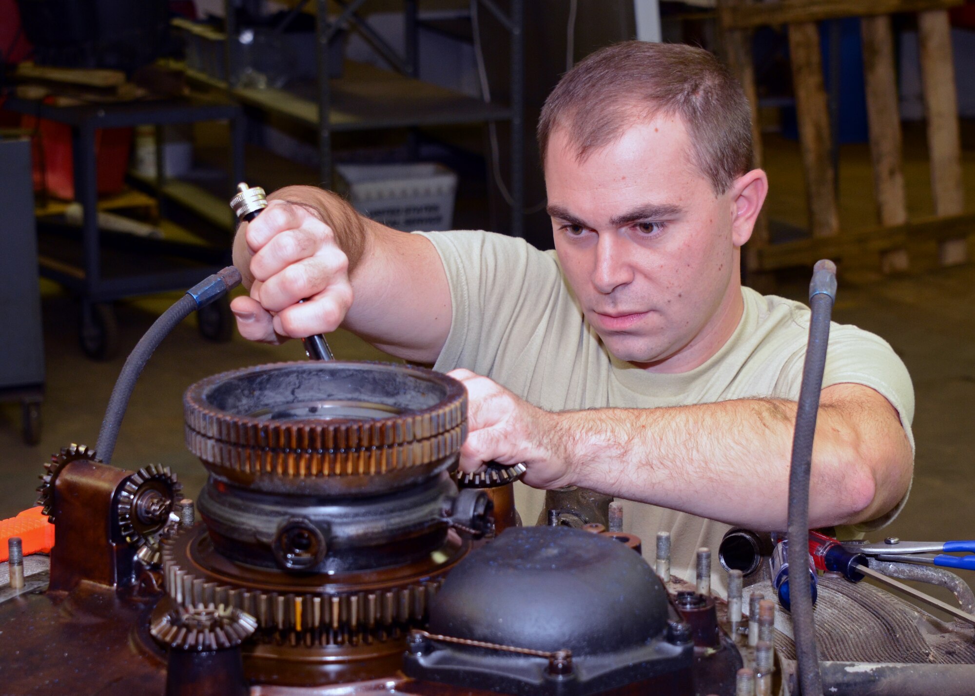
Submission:
M 786 393 L 799 394 L 804 360 L 803 345 L 790 357 L 782 371 L 779 387 L 785 388 Z M 834 323 L 830 328 L 823 388 L 843 383 L 863 384 L 890 402 L 900 416 L 901 425 L 911 443 L 911 451 L 915 451 L 914 433 L 911 429 L 915 411 L 914 385 L 904 362 L 890 344 L 878 335 L 854 326 Z M 897 505 L 876 520 L 838 527 L 838 534 L 843 538 L 853 538 L 889 524 L 900 514 L 910 493 L 909 487 Z

